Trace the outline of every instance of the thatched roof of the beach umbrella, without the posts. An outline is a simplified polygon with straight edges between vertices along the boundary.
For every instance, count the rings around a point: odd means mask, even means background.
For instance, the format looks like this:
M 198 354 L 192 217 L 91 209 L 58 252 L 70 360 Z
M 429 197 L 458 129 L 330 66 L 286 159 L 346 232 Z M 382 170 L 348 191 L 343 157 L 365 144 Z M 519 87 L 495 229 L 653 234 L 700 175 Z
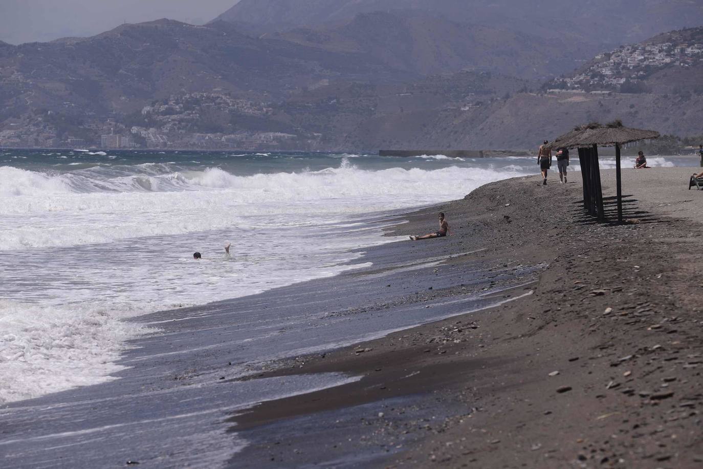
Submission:
M 551 148 L 583 148 L 593 145 L 614 146 L 616 143 L 624 144 L 632 141 L 657 139 L 659 132 L 653 130 L 631 129 L 625 127 L 620 120 L 609 124 L 581 125 L 566 134 L 558 136 L 552 143 Z

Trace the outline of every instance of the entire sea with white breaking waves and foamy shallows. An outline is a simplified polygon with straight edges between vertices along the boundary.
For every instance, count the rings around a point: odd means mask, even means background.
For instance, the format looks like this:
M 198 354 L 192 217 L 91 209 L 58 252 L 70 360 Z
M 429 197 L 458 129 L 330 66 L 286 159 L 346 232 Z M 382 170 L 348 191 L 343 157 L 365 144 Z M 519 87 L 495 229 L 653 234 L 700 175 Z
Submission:
M 533 158 L 0 150 L 0 403 L 112 379 L 149 332 L 123 319 L 334 276 L 396 240 L 389 215 L 534 173 Z

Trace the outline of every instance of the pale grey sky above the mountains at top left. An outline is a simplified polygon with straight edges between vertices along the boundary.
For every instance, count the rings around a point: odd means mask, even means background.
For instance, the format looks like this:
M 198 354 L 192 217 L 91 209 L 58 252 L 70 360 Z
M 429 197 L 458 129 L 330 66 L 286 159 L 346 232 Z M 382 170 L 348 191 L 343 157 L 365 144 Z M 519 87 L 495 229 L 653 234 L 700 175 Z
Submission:
M 0 41 L 93 36 L 122 23 L 169 18 L 202 25 L 238 0 L 0 0 Z

